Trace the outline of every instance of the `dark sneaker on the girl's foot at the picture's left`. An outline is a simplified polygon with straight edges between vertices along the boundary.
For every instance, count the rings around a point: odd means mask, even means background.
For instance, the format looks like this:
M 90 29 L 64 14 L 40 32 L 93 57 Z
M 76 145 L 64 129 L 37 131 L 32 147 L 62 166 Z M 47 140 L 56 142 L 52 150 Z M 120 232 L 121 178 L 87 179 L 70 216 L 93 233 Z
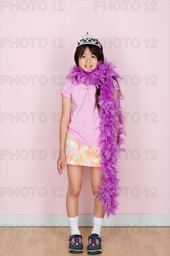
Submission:
M 68 251 L 72 253 L 82 253 L 83 252 L 83 242 L 81 235 L 69 236 L 69 246 Z

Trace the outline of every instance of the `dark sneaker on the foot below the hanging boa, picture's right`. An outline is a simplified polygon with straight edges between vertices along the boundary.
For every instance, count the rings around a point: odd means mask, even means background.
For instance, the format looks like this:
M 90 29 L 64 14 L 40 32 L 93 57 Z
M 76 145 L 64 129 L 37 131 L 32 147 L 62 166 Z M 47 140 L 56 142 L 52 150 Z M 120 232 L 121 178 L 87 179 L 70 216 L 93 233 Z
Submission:
M 102 239 L 98 234 L 91 234 L 88 238 L 87 253 L 99 254 L 102 253 Z

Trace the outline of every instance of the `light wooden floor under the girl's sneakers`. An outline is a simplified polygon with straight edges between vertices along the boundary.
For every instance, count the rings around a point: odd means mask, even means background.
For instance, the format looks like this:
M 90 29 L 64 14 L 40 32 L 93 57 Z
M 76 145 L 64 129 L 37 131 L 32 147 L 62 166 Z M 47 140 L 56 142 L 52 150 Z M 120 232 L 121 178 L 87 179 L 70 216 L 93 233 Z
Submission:
M 65 256 L 70 227 L 1 227 L 0 256 Z M 7 230 L 5 230 L 7 229 Z M 87 254 L 92 227 L 79 227 Z M 105 227 L 102 256 L 170 256 L 170 227 Z

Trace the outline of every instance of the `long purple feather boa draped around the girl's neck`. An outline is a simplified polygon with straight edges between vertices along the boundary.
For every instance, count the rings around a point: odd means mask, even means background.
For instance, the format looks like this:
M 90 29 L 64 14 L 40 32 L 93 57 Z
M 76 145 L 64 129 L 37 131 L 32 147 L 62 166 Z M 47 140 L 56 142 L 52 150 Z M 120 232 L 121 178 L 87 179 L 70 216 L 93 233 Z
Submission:
M 101 107 L 100 113 L 100 154 L 102 159 L 100 161 L 101 168 L 103 171 L 103 180 L 100 182 L 100 188 L 94 195 L 94 198 L 99 194 L 98 200 L 103 204 L 105 208 L 105 215 L 109 217 L 111 214 L 116 215 L 116 209 L 118 209 L 118 185 L 120 181 L 118 179 L 118 157 L 121 152 L 125 151 L 124 148 L 120 148 L 125 140 L 121 138 L 121 134 L 125 133 L 124 129 L 124 116 L 122 114 L 122 108 L 120 100 L 124 99 L 124 95 L 121 93 L 117 82 L 118 79 L 123 79 L 119 76 L 118 72 L 114 70 L 116 63 L 105 61 L 102 63 L 98 61 L 97 67 L 92 72 L 86 72 L 82 68 L 74 65 L 71 68 L 70 74 L 67 78 L 72 78 L 72 83 L 78 85 L 80 82 L 85 82 L 86 85 L 92 84 L 100 87 L 100 95 L 98 97 L 98 104 Z M 114 97 L 116 90 L 118 91 L 118 100 Z M 119 116 L 119 120 L 115 117 Z M 118 139 L 116 140 L 116 133 L 118 129 Z

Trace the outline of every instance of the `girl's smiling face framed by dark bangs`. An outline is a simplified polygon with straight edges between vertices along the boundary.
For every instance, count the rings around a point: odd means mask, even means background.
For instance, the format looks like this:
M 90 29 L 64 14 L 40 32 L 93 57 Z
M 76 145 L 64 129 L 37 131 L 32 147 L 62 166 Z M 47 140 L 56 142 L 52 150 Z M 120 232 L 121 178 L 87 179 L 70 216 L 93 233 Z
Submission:
M 86 47 L 84 54 L 78 59 L 78 66 L 84 71 L 92 72 L 97 67 L 98 59 L 92 54 L 89 47 Z

